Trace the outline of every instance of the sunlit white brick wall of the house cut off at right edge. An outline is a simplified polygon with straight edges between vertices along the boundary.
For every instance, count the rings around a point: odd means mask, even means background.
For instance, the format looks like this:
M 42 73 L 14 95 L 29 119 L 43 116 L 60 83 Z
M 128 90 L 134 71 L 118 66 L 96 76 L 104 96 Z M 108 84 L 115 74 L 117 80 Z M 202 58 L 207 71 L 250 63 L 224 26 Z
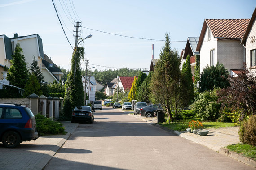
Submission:
M 251 39 L 249 37 L 255 36 L 256 38 L 256 20 L 254 20 L 253 24 L 252 24 L 252 28 L 248 34 L 248 38 L 246 40 L 246 63 L 247 63 L 247 67 L 250 68 L 251 67 L 251 50 L 256 49 L 256 41 L 255 42 L 251 42 Z M 255 70 L 255 69 L 254 69 Z

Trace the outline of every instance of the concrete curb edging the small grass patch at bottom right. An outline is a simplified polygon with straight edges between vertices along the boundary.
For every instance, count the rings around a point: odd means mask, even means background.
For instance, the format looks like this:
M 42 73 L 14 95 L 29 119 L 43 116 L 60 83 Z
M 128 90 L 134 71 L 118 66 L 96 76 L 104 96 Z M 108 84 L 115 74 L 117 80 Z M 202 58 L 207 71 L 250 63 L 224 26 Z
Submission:
M 249 166 L 252 166 L 252 167 L 256 168 L 256 161 L 255 160 L 253 160 L 251 158 L 248 158 L 248 157 L 244 157 L 243 155 L 235 153 L 233 151 L 230 151 L 227 148 L 220 148 L 219 153 L 221 153 L 223 155 L 226 155 L 227 157 L 232 157 L 233 159 L 236 159 L 240 162 L 243 162 L 243 163 L 245 163 Z

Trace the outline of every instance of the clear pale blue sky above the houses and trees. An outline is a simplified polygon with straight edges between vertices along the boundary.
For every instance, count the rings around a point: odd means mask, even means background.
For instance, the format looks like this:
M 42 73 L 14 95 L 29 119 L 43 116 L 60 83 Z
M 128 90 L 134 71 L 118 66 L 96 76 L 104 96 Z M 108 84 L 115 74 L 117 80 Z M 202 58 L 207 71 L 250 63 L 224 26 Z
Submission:
M 83 27 L 113 34 L 164 40 L 164 34 L 169 33 L 171 40 L 186 41 L 188 37 L 199 37 L 205 18 L 251 18 L 256 6 L 255 0 L 54 0 L 54 3 L 72 47 L 75 45 L 74 20 L 82 21 Z M 125 38 L 85 28 L 79 30 L 81 38 L 93 35 L 84 44 L 80 43 L 90 64 L 149 69 L 152 44 L 155 58 L 159 58 L 164 45 L 164 41 Z M 52 0 L 1 0 L 0 34 L 13 37 L 13 33 L 19 36 L 39 34 L 44 54 L 55 64 L 70 69 L 73 51 Z M 172 42 L 171 47 L 180 54 L 185 42 Z M 85 68 L 84 61 L 82 68 Z M 109 68 L 95 66 L 95 69 Z

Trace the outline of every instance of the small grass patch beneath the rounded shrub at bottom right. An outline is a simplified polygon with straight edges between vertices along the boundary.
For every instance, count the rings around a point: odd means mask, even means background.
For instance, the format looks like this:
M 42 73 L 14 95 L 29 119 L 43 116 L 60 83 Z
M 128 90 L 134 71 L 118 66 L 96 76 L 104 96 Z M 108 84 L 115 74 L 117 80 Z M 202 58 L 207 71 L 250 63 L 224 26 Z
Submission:
M 256 146 L 251 146 L 249 144 L 236 144 L 228 145 L 226 148 L 236 153 L 241 153 L 245 157 L 250 157 L 256 160 Z

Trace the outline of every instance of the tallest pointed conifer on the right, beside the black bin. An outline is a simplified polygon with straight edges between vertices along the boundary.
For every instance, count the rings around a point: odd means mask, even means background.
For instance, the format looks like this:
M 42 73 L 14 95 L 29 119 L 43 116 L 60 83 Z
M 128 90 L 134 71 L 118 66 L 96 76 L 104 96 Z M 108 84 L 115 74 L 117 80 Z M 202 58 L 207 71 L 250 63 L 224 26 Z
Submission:
M 172 110 L 177 114 L 179 108 L 180 63 L 177 50 L 171 49 L 170 37 L 165 34 L 165 45 L 160 51 L 160 59 L 156 63 L 150 89 L 154 102 L 161 103 L 166 110 L 169 123 L 170 120 L 174 120 Z

